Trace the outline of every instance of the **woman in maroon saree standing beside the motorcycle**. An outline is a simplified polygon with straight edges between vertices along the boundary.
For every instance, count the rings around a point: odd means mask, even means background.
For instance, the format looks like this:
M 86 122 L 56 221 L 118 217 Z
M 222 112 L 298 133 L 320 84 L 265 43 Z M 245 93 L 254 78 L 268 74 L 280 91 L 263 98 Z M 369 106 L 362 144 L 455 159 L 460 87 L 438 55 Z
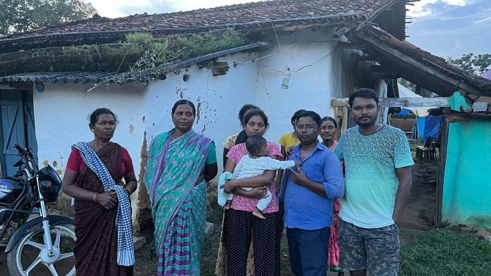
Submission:
M 87 142 L 109 170 L 116 183 L 125 179 L 128 196 L 137 187 L 131 157 L 126 149 L 110 142 L 116 129 L 116 117 L 107 108 L 98 108 L 90 116 L 95 139 Z M 104 192 L 102 180 L 85 165 L 78 149 L 73 148 L 63 177 L 63 192 L 75 198 L 75 270 L 80 275 L 133 275 L 133 265 L 117 262 L 115 192 Z

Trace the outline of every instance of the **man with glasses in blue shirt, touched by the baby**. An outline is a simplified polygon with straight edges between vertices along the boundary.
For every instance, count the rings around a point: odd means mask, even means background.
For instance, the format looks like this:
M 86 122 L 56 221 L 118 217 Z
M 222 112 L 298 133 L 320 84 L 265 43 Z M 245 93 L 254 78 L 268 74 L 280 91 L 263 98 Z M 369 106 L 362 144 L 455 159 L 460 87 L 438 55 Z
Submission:
M 332 201 L 344 195 L 341 163 L 317 140 L 320 121 L 313 111 L 298 115 L 295 131 L 301 144 L 289 160 L 300 165 L 286 170 L 279 194 L 295 275 L 326 275 Z

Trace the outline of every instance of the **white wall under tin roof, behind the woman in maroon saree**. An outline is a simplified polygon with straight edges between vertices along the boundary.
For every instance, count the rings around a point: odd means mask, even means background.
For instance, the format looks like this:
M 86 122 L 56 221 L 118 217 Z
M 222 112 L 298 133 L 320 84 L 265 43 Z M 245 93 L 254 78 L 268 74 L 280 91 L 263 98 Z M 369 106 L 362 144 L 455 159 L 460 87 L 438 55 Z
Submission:
M 118 116 L 113 142 L 128 149 L 135 174 L 140 170 L 143 142 L 143 84 L 100 85 L 44 83 L 44 92 L 34 91 L 36 138 L 40 166 L 52 165 L 63 177 L 71 145 L 94 138 L 88 127 L 88 116 L 95 108 L 109 108 Z M 133 215 L 137 193 L 131 196 Z M 68 196 L 62 196 L 57 208 L 71 210 Z M 68 212 L 70 213 L 70 212 Z

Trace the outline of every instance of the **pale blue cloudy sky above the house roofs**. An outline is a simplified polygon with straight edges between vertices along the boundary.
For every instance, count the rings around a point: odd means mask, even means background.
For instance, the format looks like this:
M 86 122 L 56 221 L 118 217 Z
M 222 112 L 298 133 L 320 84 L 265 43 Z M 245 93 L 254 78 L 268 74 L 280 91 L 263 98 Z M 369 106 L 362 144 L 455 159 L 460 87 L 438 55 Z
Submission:
M 254 0 L 84 0 L 99 15 L 117 18 L 135 13 L 169 13 Z M 257 1 L 257 0 L 256 0 Z M 420 0 L 410 11 L 408 42 L 443 58 L 491 54 L 491 0 Z M 411 20 L 409 20 L 411 21 Z

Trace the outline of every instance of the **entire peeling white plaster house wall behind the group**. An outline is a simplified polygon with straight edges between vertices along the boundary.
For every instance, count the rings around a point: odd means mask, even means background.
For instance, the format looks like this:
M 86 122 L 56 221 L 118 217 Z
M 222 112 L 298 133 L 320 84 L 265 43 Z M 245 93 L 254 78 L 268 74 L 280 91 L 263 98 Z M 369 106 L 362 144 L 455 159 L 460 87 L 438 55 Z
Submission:
M 226 61 L 230 69 L 226 75 L 217 77 L 210 69 L 192 65 L 179 73 L 167 74 L 166 80 L 147 85 L 103 84 L 88 93 L 92 84 L 45 83 L 44 92 L 34 92 L 40 165 L 49 163 L 63 174 L 71 145 L 93 138 L 87 116 L 95 108 L 107 107 L 119 116 L 113 141 L 128 149 L 138 177 L 144 133 L 150 145 L 152 137 L 174 127 L 171 108 L 179 99 L 195 103 L 198 118 L 193 128 L 215 141 L 220 167 L 221 144 L 241 130 L 237 113 L 245 103 L 265 110 L 271 125 L 266 137 L 277 142 L 281 134 L 292 130 L 290 118 L 296 110 L 303 108 L 321 116 L 332 115 L 331 98 L 342 96 L 341 52 L 337 50 L 337 40 L 332 39 L 332 31 L 280 34 L 283 50 L 279 53 L 276 53 L 279 47 L 273 46 L 260 54 L 220 57 L 218 61 Z M 276 41 L 274 37 L 270 39 Z M 250 61 L 260 57 L 264 58 Z M 310 66 L 301 69 L 305 65 Z M 288 89 L 281 89 L 286 67 L 292 70 L 291 80 Z M 184 75 L 188 75 L 187 81 L 183 80 Z M 132 195 L 133 215 L 137 210 L 137 194 Z

